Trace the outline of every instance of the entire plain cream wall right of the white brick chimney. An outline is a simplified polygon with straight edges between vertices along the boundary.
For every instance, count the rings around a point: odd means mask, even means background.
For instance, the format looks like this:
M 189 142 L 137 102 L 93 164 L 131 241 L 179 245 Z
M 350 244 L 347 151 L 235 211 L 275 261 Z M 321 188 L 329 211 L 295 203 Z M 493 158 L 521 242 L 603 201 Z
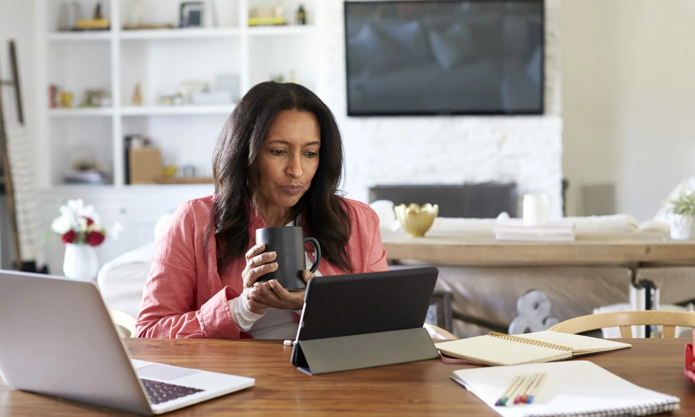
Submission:
M 564 0 L 564 170 L 615 183 L 616 208 L 653 217 L 695 175 L 695 2 Z

